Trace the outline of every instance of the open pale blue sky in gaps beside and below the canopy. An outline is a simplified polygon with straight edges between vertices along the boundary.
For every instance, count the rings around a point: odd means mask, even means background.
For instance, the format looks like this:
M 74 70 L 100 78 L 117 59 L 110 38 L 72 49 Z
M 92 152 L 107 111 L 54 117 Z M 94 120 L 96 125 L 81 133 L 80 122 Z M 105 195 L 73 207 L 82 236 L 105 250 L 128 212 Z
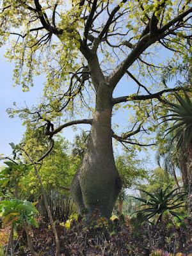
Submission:
M 6 61 L 4 58 L 5 48 L 0 48 L 0 70 L 1 70 L 1 81 L 0 81 L 0 89 L 1 89 L 1 101 L 0 101 L 0 154 L 4 154 L 5 156 L 10 156 L 12 154 L 12 148 L 9 143 L 13 142 L 15 144 L 19 143 L 22 134 L 24 134 L 25 127 L 22 125 L 22 121 L 18 118 L 9 118 L 6 113 L 6 109 L 13 107 L 13 102 L 17 103 L 17 106 L 22 108 L 25 106 L 25 102 L 28 106 L 31 106 L 38 102 L 42 94 L 42 88 L 44 79 L 42 76 L 37 77 L 35 79 L 35 86 L 30 88 L 29 92 L 22 92 L 22 88 L 20 86 L 13 87 L 13 68 L 14 64 Z M 127 79 L 122 79 L 121 83 L 115 89 L 114 96 L 119 97 L 122 95 L 128 95 L 132 92 L 132 81 L 127 81 Z M 114 118 L 114 116 L 113 116 Z M 118 111 L 118 114 L 115 115 L 115 122 L 119 124 L 128 124 L 127 113 Z M 88 125 L 82 125 L 81 128 L 89 129 Z M 80 130 L 78 130 L 80 131 Z M 77 132 L 78 132 L 77 131 Z M 74 138 L 74 131 L 71 128 L 65 129 L 63 131 L 63 136 L 68 140 L 72 141 Z M 119 151 L 119 150 L 118 150 Z M 153 152 L 151 151 L 151 154 Z M 152 154 L 153 155 L 153 154 Z M 140 157 L 143 158 L 145 155 L 141 152 Z M 151 163 L 149 164 L 151 167 L 156 165 L 154 163 L 154 157 L 151 157 Z

